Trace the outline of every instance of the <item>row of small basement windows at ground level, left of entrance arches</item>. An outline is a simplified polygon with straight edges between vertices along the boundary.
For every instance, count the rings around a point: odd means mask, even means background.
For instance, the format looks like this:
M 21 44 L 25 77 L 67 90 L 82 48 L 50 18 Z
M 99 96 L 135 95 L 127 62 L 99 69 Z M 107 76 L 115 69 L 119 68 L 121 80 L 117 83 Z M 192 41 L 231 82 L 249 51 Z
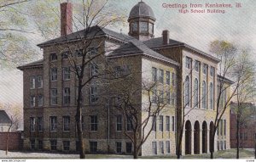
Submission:
M 159 145 L 159 149 L 157 149 L 157 144 Z M 157 142 L 152 142 L 152 153 L 153 154 L 158 154 L 158 150 L 160 151 L 159 154 L 170 154 L 171 153 L 171 143 L 170 143 L 170 141 L 166 141 L 166 142 L 160 141 L 158 143 Z

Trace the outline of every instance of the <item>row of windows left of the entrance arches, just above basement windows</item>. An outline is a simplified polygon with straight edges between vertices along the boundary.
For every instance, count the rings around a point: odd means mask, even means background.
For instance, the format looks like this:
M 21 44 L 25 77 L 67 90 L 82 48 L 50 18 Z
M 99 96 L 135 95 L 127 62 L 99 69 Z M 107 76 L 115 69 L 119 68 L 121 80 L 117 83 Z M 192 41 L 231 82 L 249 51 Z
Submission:
M 159 127 L 159 131 L 164 131 L 164 121 L 166 121 L 166 131 L 175 131 L 175 117 L 174 116 L 165 116 L 165 120 L 164 120 L 164 116 L 160 115 L 158 117 L 152 117 L 152 131 L 156 131 L 156 125 L 158 124 Z M 158 119 L 158 121 L 157 121 Z M 158 123 L 157 123 L 158 122 Z M 172 122 L 172 123 L 171 123 Z M 171 128 L 172 126 L 172 128 Z

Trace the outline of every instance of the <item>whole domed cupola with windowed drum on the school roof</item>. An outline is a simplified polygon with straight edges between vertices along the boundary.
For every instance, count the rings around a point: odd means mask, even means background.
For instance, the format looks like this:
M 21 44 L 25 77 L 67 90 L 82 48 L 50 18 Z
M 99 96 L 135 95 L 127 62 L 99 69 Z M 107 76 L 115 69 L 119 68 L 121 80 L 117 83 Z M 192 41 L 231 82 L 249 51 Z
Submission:
M 133 36 L 140 41 L 146 41 L 154 37 L 154 12 L 148 4 L 143 1 L 137 3 L 130 12 L 129 36 Z

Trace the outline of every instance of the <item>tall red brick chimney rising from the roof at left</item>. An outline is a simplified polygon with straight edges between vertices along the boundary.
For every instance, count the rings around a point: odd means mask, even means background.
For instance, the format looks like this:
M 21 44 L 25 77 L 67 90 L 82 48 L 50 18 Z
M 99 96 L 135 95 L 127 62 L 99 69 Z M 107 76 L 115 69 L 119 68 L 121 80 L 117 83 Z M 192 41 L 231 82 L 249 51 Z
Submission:
M 73 6 L 72 3 L 61 3 L 61 36 L 73 32 Z

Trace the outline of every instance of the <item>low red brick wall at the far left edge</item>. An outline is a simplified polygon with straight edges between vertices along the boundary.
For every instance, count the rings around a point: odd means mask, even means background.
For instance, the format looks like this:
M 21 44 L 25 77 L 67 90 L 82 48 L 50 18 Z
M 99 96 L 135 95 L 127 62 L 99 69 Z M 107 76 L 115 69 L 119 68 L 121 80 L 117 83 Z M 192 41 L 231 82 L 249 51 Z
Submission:
M 6 149 L 7 132 L 0 132 L 0 149 Z M 21 132 L 9 132 L 9 150 L 18 150 L 21 148 Z

